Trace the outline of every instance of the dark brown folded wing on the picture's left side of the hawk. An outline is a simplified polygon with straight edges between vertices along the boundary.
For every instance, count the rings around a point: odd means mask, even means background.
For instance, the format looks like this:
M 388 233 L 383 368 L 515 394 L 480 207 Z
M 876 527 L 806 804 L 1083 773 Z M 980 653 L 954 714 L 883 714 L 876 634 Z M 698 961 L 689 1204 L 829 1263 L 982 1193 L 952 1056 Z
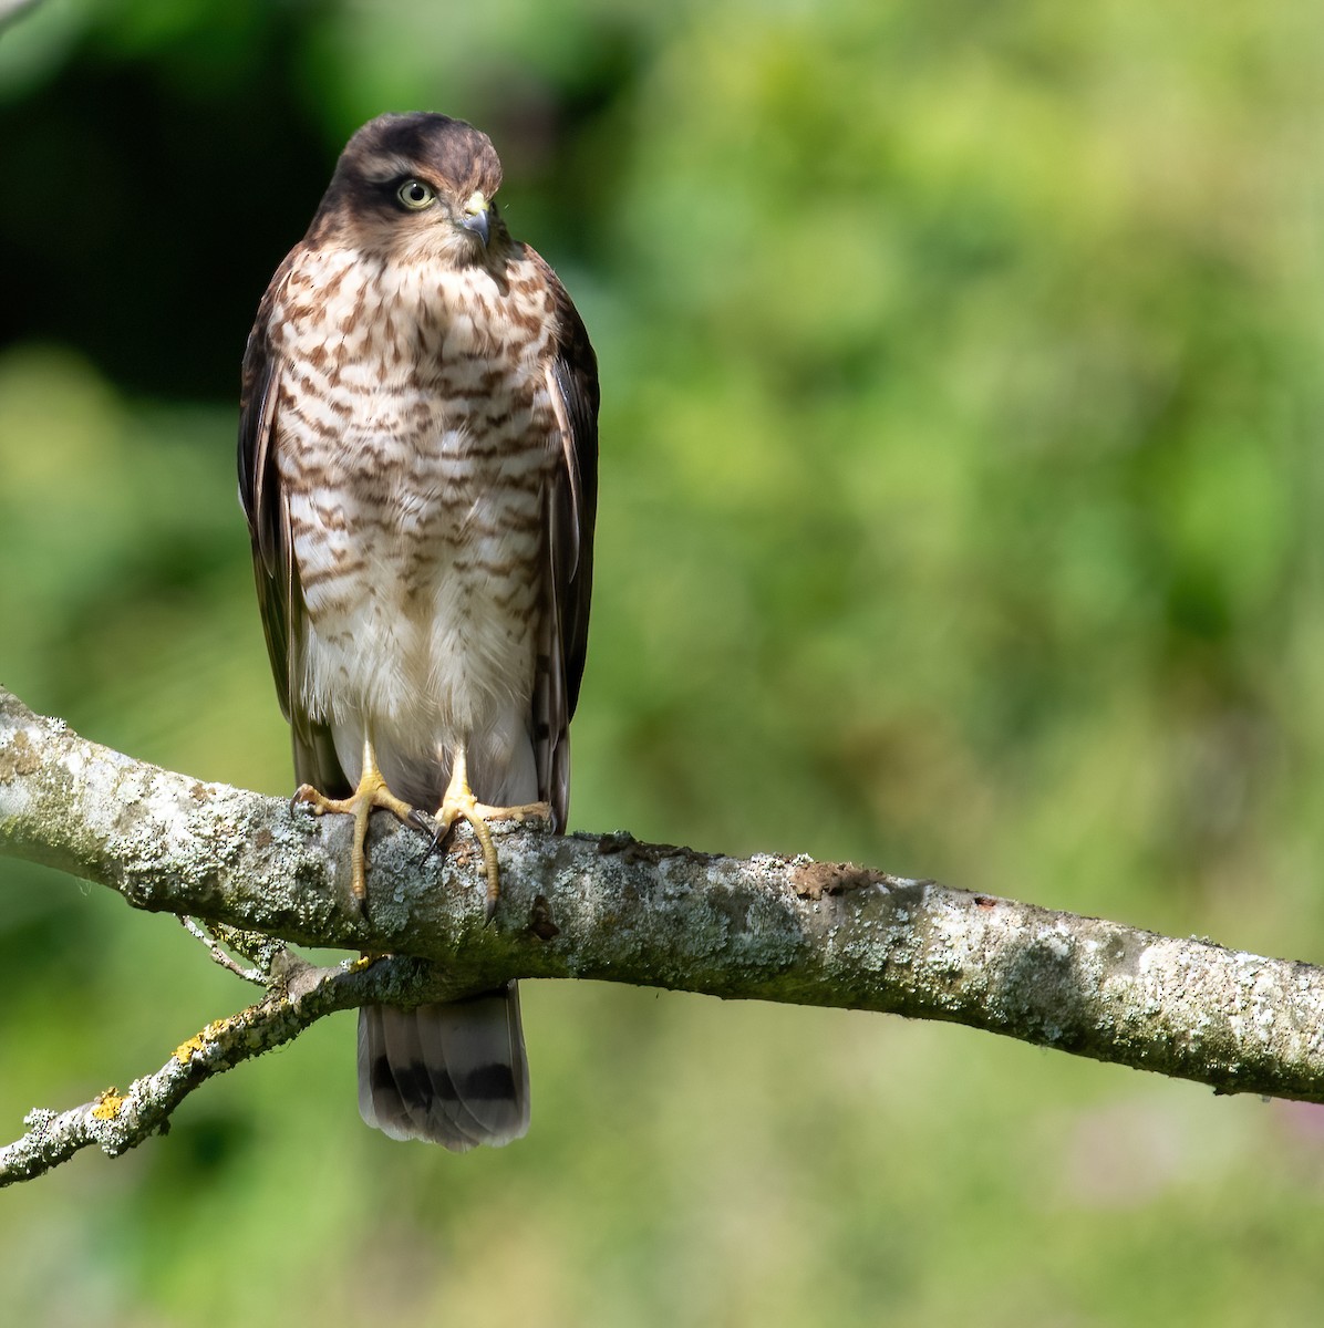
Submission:
M 299 673 L 304 607 L 295 578 L 290 511 L 280 489 L 274 448 L 282 363 L 271 344 L 271 316 L 300 251 L 296 248 L 271 279 L 244 349 L 239 401 L 239 501 L 252 538 L 258 608 L 267 636 L 271 672 L 293 740 L 295 778 L 300 784 L 311 784 L 327 797 L 343 797 L 349 793 L 349 782 L 336 758 L 331 730 L 309 720 L 293 685 Z

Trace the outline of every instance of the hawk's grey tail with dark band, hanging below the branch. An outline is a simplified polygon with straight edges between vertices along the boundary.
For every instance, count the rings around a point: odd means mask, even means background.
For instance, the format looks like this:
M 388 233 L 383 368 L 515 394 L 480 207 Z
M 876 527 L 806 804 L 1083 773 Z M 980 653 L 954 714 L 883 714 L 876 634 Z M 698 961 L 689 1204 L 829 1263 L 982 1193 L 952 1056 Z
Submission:
M 529 1129 L 518 984 L 445 1005 L 364 1005 L 359 1113 L 393 1139 L 455 1153 L 518 1139 Z

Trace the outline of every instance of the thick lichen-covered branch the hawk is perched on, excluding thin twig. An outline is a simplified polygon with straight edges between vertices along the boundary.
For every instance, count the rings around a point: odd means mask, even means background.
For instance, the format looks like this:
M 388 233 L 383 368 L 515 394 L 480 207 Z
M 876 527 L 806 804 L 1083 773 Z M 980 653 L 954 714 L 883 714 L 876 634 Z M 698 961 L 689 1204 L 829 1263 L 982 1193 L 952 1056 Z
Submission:
M 0 855 L 138 908 L 424 961 L 373 965 L 372 999 L 604 979 L 951 1020 L 1219 1092 L 1324 1101 L 1324 969 L 1309 964 L 849 865 L 494 830 L 491 926 L 467 834 L 425 858 L 390 817 L 374 822 L 365 915 L 347 818 L 133 761 L 0 689 Z

